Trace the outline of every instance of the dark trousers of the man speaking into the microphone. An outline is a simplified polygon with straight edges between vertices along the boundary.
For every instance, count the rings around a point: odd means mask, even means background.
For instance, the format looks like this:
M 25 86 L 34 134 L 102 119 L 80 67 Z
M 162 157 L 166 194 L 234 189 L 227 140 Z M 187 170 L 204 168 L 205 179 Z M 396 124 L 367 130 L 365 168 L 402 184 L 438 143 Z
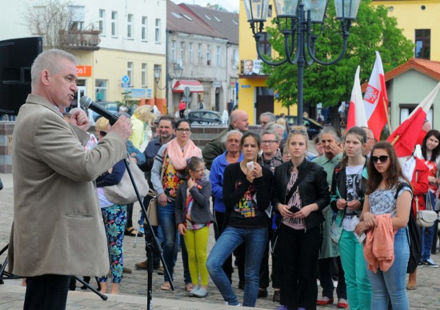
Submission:
M 24 310 L 66 309 L 70 276 L 43 274 L 26 278 Z

